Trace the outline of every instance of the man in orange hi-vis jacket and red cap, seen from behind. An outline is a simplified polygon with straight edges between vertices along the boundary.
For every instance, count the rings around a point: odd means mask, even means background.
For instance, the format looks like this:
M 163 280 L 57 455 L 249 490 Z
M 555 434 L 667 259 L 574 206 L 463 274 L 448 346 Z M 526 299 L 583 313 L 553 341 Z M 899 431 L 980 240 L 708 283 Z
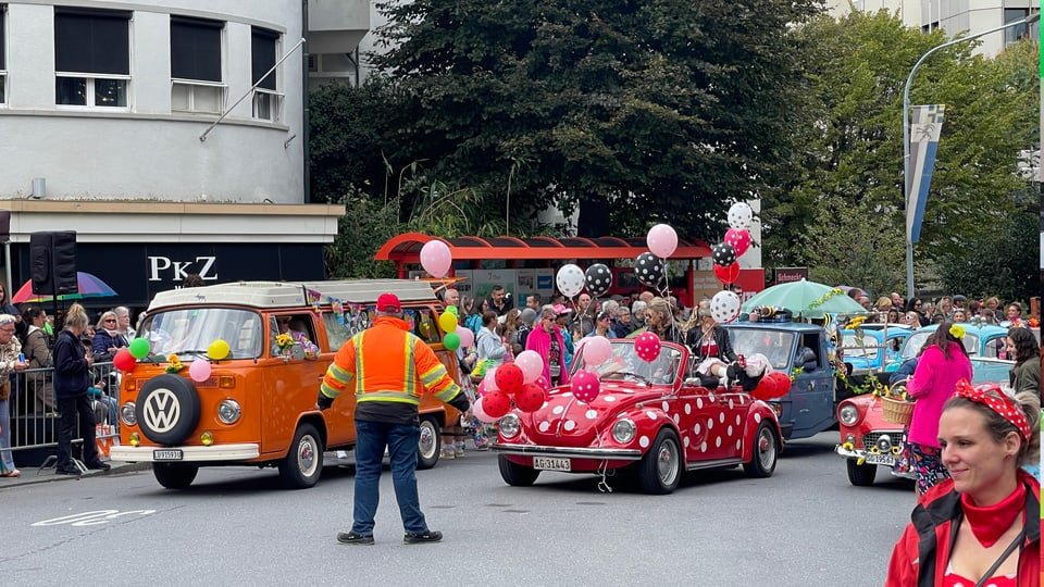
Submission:
M 339 533 L 343 545 L 372 545 L 377 511 L 381 461 L 391 458 L 395 498 L 399 503 L 408 545 L 437 542 L 443 533 L 431 530 L 417 495 L 417 451 L 421 436 L 418 405 L 430 392 L 461 412 L 471 407 L 446 367 L 402 320 L 402 304 L 394 294 L 377 298 L 373 326 L 344 344 L 319 390 L 316 405 L 326 410 L 344 391 L 356 392 L 356 495 L 351 532 Z

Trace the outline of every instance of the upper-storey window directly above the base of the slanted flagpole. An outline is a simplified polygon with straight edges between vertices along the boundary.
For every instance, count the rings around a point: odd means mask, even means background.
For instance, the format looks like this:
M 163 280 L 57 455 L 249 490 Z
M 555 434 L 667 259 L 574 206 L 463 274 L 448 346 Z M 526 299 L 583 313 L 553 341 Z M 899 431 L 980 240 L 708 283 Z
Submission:
M 221 114 L 221 33 L 225 23 L 171 16 L 171 109 Z

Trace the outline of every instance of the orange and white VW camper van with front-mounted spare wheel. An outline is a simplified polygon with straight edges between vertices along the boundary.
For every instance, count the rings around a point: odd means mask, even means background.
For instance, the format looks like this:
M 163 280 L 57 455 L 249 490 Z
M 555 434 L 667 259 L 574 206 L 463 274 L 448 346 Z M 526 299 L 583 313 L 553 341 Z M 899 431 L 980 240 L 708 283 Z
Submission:
M 278 467 L 286 486 L 313 486 L 324 450 L 356 442 L 355 394 L 320 412 L 320 383 L 340 346 L 370 326 L 385 291 L 398 296 L 413 334 L 459 380 L 456 353 L 437 326 L 440 304 L 424 282 L 239 282 L 157 294 L 132 342 L 144 338 L 148 354 L 123 358 L 120 446 L 111 457 L 151 463 L 171 489 L 188 487 L 200 466 L 220 465 Z M 306 358 L 289 338 L 281 347 L 281 320 L 302 328 L 318 352 Z M 459 417 L 422 397 L 418 467 L 435 464 L 442 427 Z

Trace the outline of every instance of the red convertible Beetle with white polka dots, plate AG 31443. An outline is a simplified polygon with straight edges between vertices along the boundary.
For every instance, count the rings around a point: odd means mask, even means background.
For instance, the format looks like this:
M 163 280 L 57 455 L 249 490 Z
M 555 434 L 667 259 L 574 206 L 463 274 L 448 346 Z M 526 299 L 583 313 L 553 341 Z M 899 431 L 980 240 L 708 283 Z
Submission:
M 601 475 L 634 473 L 648 494 L 670 494 L 686 471 L 742 464 L 753 477 L 775 470 L 782 448 L 775 413 L 738 385 L 708 389 L 692 374 L 688 349 L 663 342 L 654 361 L 635 341 L 614 339 L 612 355 L 587 365 L 581 347 L 572 373 L 585 369 L 600 390 L 584 403 L 569 384 L 551 388 L 534 412 L 499 421 L 500 476 L 530 486 L 543 471 Z

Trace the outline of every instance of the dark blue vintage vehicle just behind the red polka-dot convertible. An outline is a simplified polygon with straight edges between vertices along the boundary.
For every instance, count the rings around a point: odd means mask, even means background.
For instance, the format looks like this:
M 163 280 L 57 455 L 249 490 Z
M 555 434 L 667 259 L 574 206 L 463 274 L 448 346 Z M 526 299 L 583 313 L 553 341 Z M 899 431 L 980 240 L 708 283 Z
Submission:
M 769 401 L 783 438 L 815 436 L 836 424 L 837 388 L 829 362 L 829 335 L 822 326 L 781 317 L 726 324 L 732 349 L 745 357 L 769 359 L 773 371 L 791 376 L 790 391 Z

